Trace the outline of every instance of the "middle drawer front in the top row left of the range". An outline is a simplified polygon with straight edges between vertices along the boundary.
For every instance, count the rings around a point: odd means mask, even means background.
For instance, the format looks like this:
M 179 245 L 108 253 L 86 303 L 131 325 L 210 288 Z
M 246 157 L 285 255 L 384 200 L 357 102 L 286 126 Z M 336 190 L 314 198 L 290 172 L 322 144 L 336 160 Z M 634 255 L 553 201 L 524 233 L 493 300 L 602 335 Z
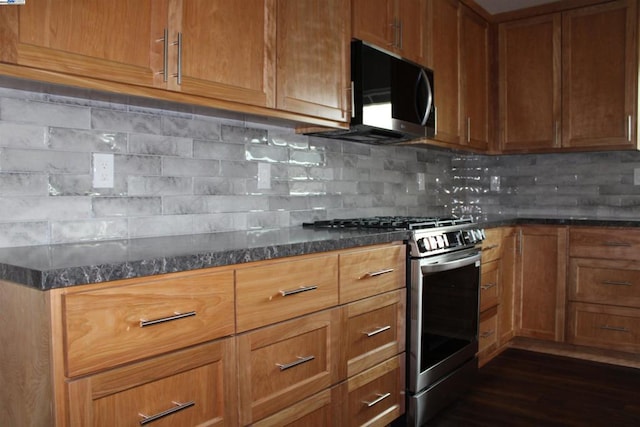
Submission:
M 238 332 L 337 304 L 337 255 L 286 260 L 236 270 Z

